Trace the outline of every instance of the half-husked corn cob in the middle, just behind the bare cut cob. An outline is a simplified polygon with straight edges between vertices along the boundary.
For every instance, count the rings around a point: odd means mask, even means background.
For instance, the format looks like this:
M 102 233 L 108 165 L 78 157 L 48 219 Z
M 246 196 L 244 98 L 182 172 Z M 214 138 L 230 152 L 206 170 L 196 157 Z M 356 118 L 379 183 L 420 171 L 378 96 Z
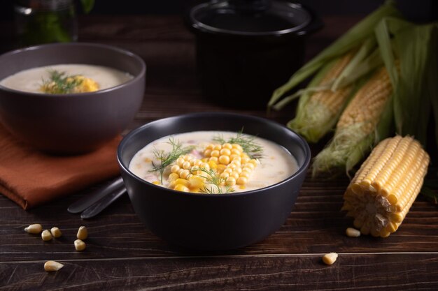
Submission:
M 381 68 L 355 93 L 336 126 L 332 142 L 313 161 L 313 176 L 346 167 L 351 170 L 374 143 L 374 130 L 393 92 Z

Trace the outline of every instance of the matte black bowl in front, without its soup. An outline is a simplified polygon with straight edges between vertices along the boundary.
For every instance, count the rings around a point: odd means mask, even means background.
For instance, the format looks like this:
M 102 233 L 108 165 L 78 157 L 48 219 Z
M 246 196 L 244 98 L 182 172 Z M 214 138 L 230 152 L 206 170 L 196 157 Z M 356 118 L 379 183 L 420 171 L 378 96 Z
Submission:
M 232 194 L 183 193 L 151 184 L 129 171 L 134 154 L 166 135 L 196 130 L 244 132 L 281 144 L 297 159 L 299 170 L 278 184 Z M 247 246 L 278 230 L 306 177 L 311 152 L 302 137 L 273 121 L 239 114 L 205 112 L 153 121 L 120 142 L 118 162 L 136 214 L 170 244 L 198 250 Z

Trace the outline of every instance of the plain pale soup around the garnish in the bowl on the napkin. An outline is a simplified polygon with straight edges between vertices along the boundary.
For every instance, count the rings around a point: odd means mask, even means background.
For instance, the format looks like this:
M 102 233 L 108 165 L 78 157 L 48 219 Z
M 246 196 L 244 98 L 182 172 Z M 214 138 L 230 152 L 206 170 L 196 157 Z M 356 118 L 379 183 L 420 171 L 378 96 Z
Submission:
M 87 64 L 58 64 L 22 70 L 0 81 L 1 86 L 18 91 L 43 93 L 44 80 L 50 80 L 50 71 L 56 70 L 65 75 L 80 75 L 97 82 L 98 89 L 108 89 L 125 83 L 133 78 L 129 73 L 106 66 Z

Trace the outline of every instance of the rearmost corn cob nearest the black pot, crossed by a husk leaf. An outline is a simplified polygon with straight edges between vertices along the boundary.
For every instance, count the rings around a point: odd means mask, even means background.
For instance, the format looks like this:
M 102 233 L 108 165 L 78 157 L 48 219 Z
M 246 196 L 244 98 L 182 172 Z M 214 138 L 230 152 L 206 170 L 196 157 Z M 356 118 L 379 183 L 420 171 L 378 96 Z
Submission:
M 355 51 L 352 50 L 339 58 L 317 86 L 330 84 L 336 79 L 351 61 Z M 288 127 L 303 135 L 307 141 L 318 142 L 334 127 L 352 91 L 353 85 L 350 84 L 336 91 L 331 89 L 316 91 L 309 98 L 303 96 L 299 99 L 297 116 L 288 122 Z

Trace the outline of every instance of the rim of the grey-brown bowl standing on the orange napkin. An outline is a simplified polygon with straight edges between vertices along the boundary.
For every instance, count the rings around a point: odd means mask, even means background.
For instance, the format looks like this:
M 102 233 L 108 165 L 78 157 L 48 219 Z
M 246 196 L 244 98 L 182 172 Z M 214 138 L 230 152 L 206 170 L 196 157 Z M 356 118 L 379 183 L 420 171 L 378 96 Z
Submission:
M 141 57 L 139 57 L 139 55 L 134 54 L 134 52 L 130 52 L 129 50 L 122 49 L 120 47 L 115 47 L 113 45 L 105 45 L 102 43 L 80 43 L 80 42 L 78 42 L 78 43 L 45 43 L 42 45 L 32 45 L 30 47 L 21 47 L 17 50 L 11 50 L 9 52 L 5 52 L 3 54 L 0 54 L 0 60 L 3 58 L 7 58 L 13 54 L 20 54 L 22 52 L 28 52 L 28 51 L 32 51 L 32 50 L 41 50 L 41 49 L 45 49 L 46 47 L 68 47 L 68 46 L 71 46 L 71 47 L 100 47 L 100 48 L 105 49 L 105 50 L 113 50 L 113 51 L 118 52 L 120 54 L 125 54 L 126 56 L 132 57 L 133 59 L 135 59 L 136 61 L 139 62 L 140 66 L 141 66 L 140 73 L 135 75 L 131 80 L 127 80 L 127 82 L 123 82 L 122 84 L 118 84 L 116 86 L 109 87 L 106 89 L 101 89 L 101 90 L 91 91 L 91 92 L 83 92 L 83 93 L 45 94 L 45 93 L 29 92 L 29 91 L 21 91 L 21 90 L 11 89 L 11 88 L 5 87 L 1 84 L 0 84 L 0 90 L 8 91 L 8 92 L 14 93 L 14 94 L 20 94 L 20 95 L 25 94 L 25 95 L 29 95 L 29 96 L 35 96 L 35 97 L 39 97 L 39 98 L 83 98 L 83 96 L 86 96 L 88 94 L 92 94 L 92 95 L 99 94 L 100 95 L 100 94 L 105 94 L 108 91 L 117 90 L 120 87 L 129 86 L 129 84 L 132 84 L 134 82 L 137 82 L 138 80 L 141 80 L 146 75 L 146 63 L 145 63 L 145 61 L 143 61 L 143 59 L 141 59 Z M 108 66 L 108 67 L 112 68 L 111 66 Z M 31 69 L 31 68 L 27 68 L 24 70 L 28 70 L 28 69 Z M 17 73 L 19 73 L 19 72 L 17 72 Z

